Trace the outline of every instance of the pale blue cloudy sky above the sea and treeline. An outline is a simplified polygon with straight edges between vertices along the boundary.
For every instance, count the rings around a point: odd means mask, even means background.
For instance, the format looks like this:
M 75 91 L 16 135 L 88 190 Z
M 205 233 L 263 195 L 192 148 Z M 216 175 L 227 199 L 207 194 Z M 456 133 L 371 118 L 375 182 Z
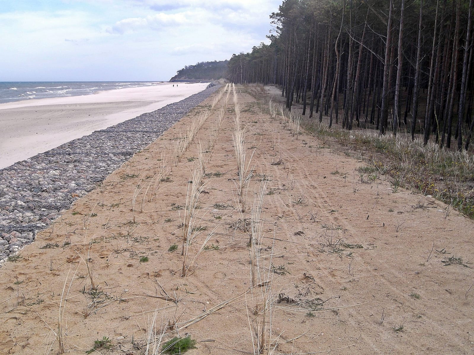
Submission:
M 0 0 L 0 81 L 169 80 L 269 43 L 282 0 Z

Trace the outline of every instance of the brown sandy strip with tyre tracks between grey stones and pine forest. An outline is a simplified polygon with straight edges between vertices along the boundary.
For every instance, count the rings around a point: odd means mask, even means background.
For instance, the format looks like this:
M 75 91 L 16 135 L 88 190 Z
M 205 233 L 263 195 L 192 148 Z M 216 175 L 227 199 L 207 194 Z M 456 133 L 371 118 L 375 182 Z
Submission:
M 0 269 L 0 353 L 160 354 L 154 347 L 189 335 L 188 353 L 199 355 L 254 354 L 258 341 L 274 354 L 473 354 L 474 221 L 394 189 L 387 175 L 361 177 L 367 163 L 336 139 L 293 134 L 252 88 L 236 89 L 253 169 L 246 212 L 232 94 L 209 146 L 226 100 L 212 109 L 216 93 Z M 174 147 L 205 114 L 194 140 L 206 158 L 189 259 L 197 257 L 181 277 L 200 154 L 192 143 L 175 163 Z

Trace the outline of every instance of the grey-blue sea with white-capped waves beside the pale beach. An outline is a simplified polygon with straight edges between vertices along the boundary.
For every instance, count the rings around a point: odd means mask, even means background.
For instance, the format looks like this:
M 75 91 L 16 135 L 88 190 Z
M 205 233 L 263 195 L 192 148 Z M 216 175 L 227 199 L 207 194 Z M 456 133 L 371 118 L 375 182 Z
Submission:
M 91 95 L 98 91 L 139 88 L 164 81 L 0 81 L 0 104 L 38 98 Z

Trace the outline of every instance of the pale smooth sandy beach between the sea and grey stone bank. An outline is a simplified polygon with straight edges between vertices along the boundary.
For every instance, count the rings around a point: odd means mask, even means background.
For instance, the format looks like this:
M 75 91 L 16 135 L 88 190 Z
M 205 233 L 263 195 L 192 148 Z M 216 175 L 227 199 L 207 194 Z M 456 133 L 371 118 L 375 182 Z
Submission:
M 0 105 L 0 169 L 93 131 L 187 98 L 207 83 L 102 91 Z

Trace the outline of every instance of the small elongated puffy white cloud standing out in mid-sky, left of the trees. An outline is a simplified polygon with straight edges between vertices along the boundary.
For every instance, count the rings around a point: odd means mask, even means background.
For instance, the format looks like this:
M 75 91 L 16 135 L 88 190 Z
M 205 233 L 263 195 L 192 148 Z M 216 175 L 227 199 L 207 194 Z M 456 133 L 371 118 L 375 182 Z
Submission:
M 125 18 L 116 22 L 112 27 L 106 29 L 110 34 L 123 35 L 126 32 L 137 31 L 142 28 L 149 28 L 153 30 L 161 30 L 164 27 L 183 25 L 187 21 L 185 14 L 165 14 L 158 13 L 155 15 L 141 17 L 141 18 Z

